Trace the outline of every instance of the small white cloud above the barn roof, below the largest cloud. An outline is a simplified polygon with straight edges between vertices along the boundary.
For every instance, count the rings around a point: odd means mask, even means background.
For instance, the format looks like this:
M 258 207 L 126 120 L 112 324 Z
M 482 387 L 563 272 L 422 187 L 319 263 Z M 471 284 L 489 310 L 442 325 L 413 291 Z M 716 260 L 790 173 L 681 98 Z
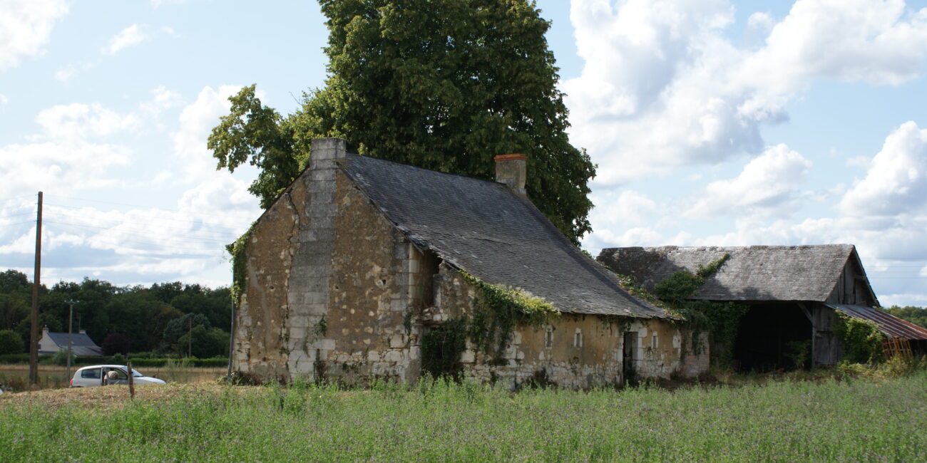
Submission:
M 770 146 L 736 178 L 708 183 L 684 215 L 691 219 L 719 215 L 787 217 L 810 166 L 810 161 L 785 144 Z

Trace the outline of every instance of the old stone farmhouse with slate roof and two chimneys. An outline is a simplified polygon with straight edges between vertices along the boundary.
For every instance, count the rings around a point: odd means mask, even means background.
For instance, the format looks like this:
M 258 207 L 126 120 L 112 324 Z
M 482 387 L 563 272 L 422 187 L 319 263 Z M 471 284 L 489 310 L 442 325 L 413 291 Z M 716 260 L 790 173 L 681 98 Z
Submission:
M 463 371 L 512 388 L 707 369 L 672 316 L 624 291 L 531 204 L 526 156 L 496 156 L 497 181 L 483 181 L 345 146 L 313 141 L 308 168 L 236 251 L 235 369 L 340 382 Z M 486 288 L 552 315 L 506 331 Z M 489 327 L 489 342 L 473 326 Z

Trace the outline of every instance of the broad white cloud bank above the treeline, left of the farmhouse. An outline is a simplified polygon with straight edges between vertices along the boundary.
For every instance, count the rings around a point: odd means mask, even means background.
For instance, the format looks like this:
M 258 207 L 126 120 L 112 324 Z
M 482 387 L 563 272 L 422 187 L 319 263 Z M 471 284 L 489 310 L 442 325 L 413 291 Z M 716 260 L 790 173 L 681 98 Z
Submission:
M 0 197 L 55 186 L 47 188 L 52 194 L 45 198 L 43 240 L 49 262 L 59 266 L 46 266 L 46 275 L 69 280 L 93 275 L 118 283 L 183 278 L 228 284 L 224 246 L 260 215 L 257 198 L 248 194 L 250 179 L 242 178 L 242 172 L 233 176 L 216 171 L 205 147 L 211 127 L 228 111 L 227 96 L 236 90 L 206 87 L 173 120 L 170 158 L 184 177 L 175 179 L 170 189 L 174 197 L 159 199 L 159 206 L 114 205 L 107 202 L 113 201 L 110 197 L 88 206 L 89 200 L 70 194 L 106 186 L 111 194 L 130 195 L 142 188 L 136 182 L 128 187 L 113 181 L 117 171 L 112 168 L 139 162 L 138 156 L 146 154 L 105 142 L 135 130 L 146 117 L 146 107 L 160 110 L 183 104 L 180 94 L 164 87 L 152 90 L 151 100 L 140 104 L 138 114 L 120 114 L 95 104 L 47 108 L 36 118 L 42 130 L 32 136 L 33 143 L 0 147 L 0 165 L 17 166 L 15 172 L 0 169 Z M 34 246 L 31 201 L 23 197 L 0 205 L 0 215 L 22 219 L 6 220 L 0 227 L 0 255 L 14 267 L 27 263 Z

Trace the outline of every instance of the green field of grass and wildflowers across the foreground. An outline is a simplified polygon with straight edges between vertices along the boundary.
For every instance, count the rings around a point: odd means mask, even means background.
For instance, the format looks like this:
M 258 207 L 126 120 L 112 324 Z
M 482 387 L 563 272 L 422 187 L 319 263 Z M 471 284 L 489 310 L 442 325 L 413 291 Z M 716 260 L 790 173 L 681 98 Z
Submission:
M 924 370 L 674 391 L 297 382 L 124 395 L 111 386 L 0 396 L 3 459 L 927 461 Z

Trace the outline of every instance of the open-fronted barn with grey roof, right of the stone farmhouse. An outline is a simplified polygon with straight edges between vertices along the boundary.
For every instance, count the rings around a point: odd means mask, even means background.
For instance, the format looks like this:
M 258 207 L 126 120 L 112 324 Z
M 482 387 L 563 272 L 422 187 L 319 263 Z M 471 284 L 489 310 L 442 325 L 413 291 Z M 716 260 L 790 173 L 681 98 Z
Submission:
M 927 330 L 874 308 L 879 300 L 852 244 L 622 247 L 603 249 L 598 259 L 654 291 L 673 272 L 694 272 L 725 255 L 692 298 L 749 307 L 733 352 L 743 369 L 792 368 L 788 344 L 803 341 L 811 342 L 812 367 L 839 362 L 837 312 L 874 321 L 888 339 L 907 340 L 915 351 L 927 344 Z

